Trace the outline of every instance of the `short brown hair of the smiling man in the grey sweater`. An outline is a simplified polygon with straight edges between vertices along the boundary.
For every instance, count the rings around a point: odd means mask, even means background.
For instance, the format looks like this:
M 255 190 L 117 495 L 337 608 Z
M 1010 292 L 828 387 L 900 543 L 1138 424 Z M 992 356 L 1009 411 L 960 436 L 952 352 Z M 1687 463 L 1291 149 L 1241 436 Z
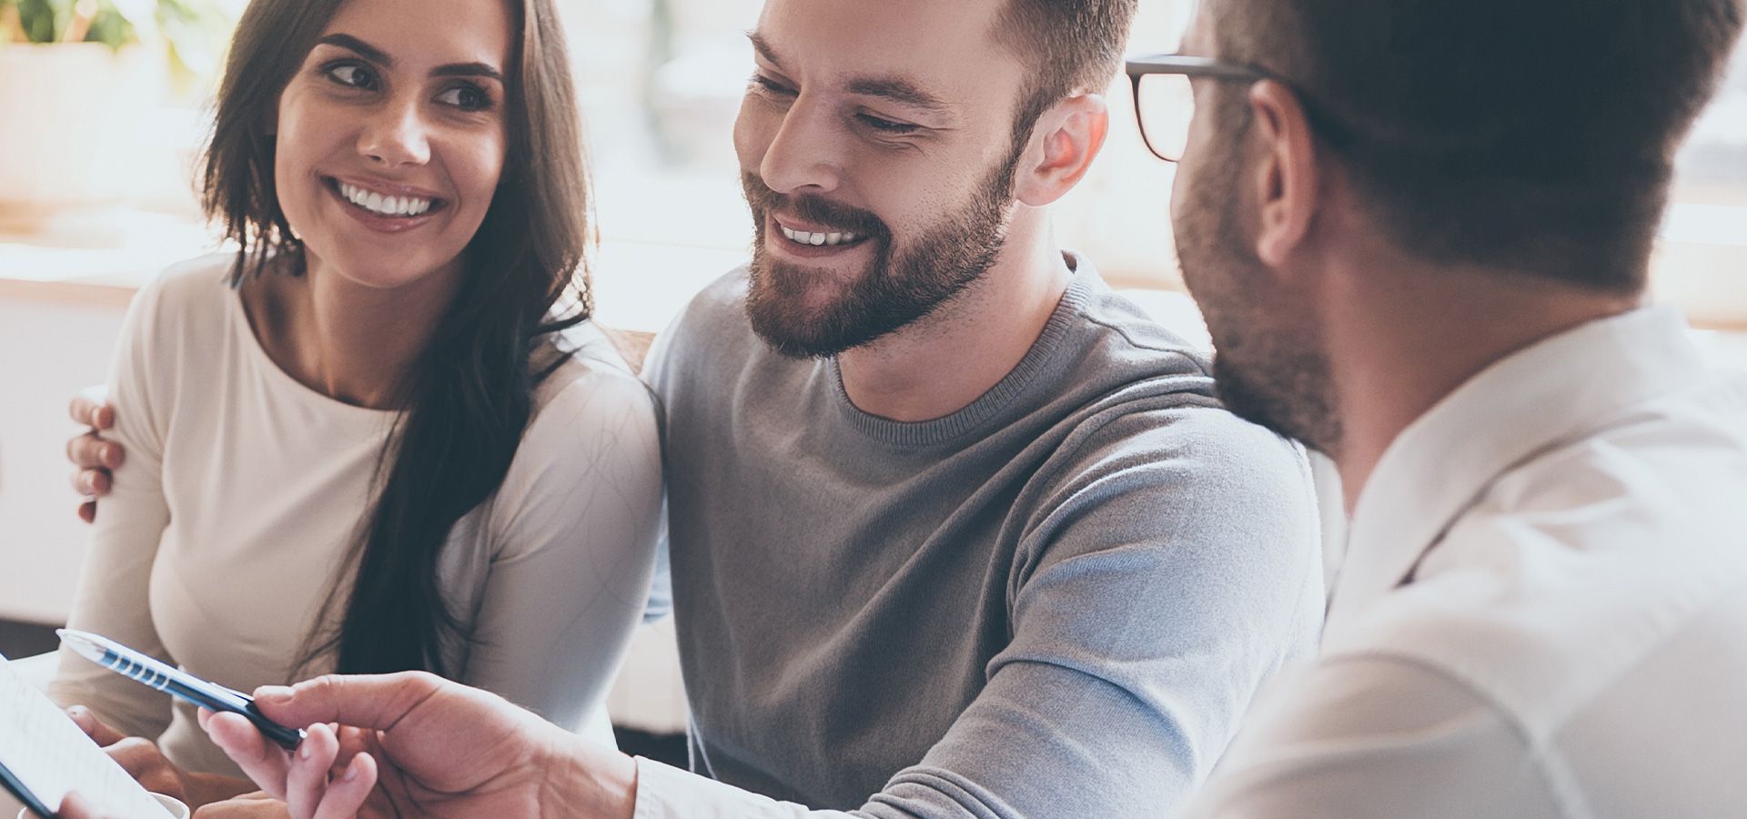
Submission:
M 1013 150 L 1024 148 L 1038 117 L 1081 93 L 1102 93 L 1122 65 L 1137 0 L 1005 0 L 996 42 L 1031 75 L 1013 117 Z

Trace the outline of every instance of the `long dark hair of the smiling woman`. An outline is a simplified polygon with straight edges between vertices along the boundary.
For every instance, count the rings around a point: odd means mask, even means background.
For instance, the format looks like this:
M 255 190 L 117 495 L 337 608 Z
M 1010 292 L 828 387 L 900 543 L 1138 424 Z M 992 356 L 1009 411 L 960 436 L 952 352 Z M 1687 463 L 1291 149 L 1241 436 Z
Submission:
M 267 124 L 342 2 L 253 0 L 238 23 L 201 180 L 208 218 L 241 244 L 232 285 L 269 264 L 302 274 Z M 589 176 L 564 35 L 552 0 L 505 2 L 521 37 L 505 72 L 503 176 L 454 300 L 397 384 L 404 412 L 377 459 L 379 489 L 297 669 L 334 653 L 346 674 L 459 672 L 444 658 L 466 636 L 438 585 L 438 557 L 454 524 L 503 482 L 535 388 L 564 360 L 550 334 L 589 316 Z M 334 623 L 328 609 L 348 585 Z

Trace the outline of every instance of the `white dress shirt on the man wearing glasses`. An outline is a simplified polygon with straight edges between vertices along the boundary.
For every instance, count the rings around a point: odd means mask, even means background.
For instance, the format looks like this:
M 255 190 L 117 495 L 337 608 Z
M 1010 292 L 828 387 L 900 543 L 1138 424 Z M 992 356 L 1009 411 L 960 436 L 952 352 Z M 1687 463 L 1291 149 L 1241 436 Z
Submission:
M 1747 377 L 1647 307 L 1433 407 L 1188 816 L 1747 817 Z

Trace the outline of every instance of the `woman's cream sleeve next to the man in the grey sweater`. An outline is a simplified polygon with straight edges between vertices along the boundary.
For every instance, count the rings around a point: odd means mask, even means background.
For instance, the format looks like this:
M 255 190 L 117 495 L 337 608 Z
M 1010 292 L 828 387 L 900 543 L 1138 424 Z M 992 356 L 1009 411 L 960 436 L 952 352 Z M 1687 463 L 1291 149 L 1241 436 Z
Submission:
M 599 714 L 650 594 L 660 503 L 643 384 L 590 370 L 564 386 L 494 501 L 465 683 L 571 730 Z

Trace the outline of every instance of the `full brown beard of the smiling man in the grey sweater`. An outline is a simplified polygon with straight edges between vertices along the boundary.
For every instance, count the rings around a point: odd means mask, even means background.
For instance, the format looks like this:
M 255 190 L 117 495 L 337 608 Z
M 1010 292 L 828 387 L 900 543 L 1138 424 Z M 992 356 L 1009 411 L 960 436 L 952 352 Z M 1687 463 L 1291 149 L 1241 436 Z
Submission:
M 1017 166 L 1017 157 L 996 166 L 970 204 L 903 246 L 894 246 L 891 229 L 870 211 L 816 196 L 777 194 L 756 175 L 742 175 L 746 203 L 756 225 L 751 286 L 746 293 L 746 316 L 753 332 L 784 356 L 830 358 L 928 318 L 977 283 L 1001 255 Z M 851 281 L 839 285 L 833 272 L 770 258 L 765 232 L 772 210 L 826 232 L 865 236 L 863 241 L 874 248 L 874 260 Z M 812 288 L 823 286 L 842 292 L 828 304 L 809 306 Z

